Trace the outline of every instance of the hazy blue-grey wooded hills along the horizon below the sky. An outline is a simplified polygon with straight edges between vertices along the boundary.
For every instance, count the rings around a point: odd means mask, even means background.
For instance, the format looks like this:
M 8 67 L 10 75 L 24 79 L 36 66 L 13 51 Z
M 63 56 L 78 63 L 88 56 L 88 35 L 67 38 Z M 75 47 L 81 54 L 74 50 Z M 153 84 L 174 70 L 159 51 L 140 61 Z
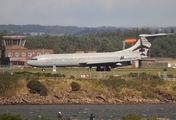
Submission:
M 8 34 L 15 35 L 26 35 L 26 36 L 46 36 L 46 35 L 63 35 L 63 34 L 74 34 L 76 36 L 88 35 L 94 33 L 102 32 L 115 32 L 121 30 L 122 32 L 133 29 L 137 30 L 137 27 L 113 27 L 113 26 L 101 26 L 101 27 L 76 27 L 76 26 L 42 26 L 35 24 L 28 25 L 0 25 L 0 32 L 7 31 Z M 140 28 L 141 29 L 141 28 Z M 154 33 L 155 31 L 165 32 L 174 30 L 176 31 L 176 26 L 172 27 L 149 27 L 150 31 Z

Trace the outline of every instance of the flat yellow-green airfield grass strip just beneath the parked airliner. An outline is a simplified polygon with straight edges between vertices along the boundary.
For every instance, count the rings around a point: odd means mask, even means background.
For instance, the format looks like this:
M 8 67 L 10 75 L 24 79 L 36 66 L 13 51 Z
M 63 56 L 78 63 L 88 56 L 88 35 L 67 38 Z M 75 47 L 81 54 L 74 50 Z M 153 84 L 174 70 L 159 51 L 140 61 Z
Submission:
M 44 73 L 52 73 L 52 68 L 46 68 Z M 14 68 L 14 72 L 32 72 L 32 73 L 43 73 L 41 68 Z M 129 73 L 140 74 L 142 72 L 161 76 L 164 74 L 162 68 L 124 68 L 119 67 L 112 69 L 110 72 L 97 72 L 92 68 L 91 72 L 88 72 L 87 68 L 57 68 L 57 73 L 66 75 L 67 78 L 74 76 L 75 78 L 80 78 L 81 75 L 85 75 L 86 78 L 108 78 L 109 76 L 127 76 Z M 167 75 L 176 77 L 176 69 L 168 68 L 166 71 Z

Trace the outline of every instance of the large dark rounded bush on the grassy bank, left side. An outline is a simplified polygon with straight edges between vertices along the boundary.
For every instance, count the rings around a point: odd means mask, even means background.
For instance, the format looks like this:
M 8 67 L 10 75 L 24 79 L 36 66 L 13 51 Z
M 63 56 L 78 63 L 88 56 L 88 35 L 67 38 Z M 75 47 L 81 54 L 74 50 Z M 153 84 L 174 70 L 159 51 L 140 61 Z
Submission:
M 42 83 L 37 80 L 31 80 L 27 83 L 27 87 L 30 88 L 30 93 L 39 93 L 41 96 L 47 95 L 47 89 Z

